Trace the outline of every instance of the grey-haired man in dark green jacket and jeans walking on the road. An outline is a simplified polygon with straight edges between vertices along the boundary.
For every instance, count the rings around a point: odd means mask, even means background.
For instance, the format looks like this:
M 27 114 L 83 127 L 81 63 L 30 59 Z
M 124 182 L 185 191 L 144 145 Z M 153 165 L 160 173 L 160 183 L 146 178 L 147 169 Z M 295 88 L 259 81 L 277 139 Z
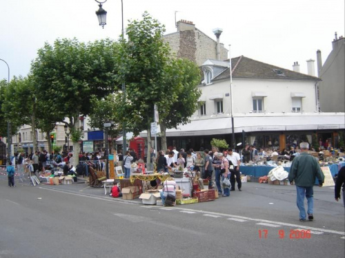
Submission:
M 313 186 L 315 178 L 319 180 L 319 186 L 324 184 L 324 173 L 319 166 L 316 158 L 308 153 L 308 142 L 301 142 L 299 144 L 301 154 L 293 159 L 291 164 L 290 173 L 288 174 L 288 180 L 290 184 L 293 184 L 295 180 L 297 189 L 297 207 L 299 208 L 299 221 L 306 222 L 306 210 L 304 208 L 304 197 L 308 201 L 308 220 L 312 221 L 314 198 L 313 198 Z

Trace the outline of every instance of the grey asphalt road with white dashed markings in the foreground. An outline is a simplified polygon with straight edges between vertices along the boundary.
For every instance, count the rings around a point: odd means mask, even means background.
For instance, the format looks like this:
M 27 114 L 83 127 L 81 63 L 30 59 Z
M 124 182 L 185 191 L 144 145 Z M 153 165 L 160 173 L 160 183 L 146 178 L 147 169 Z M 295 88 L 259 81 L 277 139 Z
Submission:
M 333 187 L 314 190 L 315 221 L 303 223 L 295 186 L 246 183 L 213 202 L 162 207 L 86 184 L 0 180 L 0 258 L 344 258 L 344 206 Z

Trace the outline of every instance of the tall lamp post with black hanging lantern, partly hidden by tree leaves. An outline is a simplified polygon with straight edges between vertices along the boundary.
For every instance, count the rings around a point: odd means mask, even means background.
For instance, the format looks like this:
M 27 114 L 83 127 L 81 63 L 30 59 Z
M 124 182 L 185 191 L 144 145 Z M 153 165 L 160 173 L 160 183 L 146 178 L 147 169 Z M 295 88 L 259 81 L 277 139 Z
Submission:
M 97 14 L 97 18 L 99 21 L 99 25 L 102 26 L 102 28 L 104 28 L 104 25 L 106 25 L 106 10 L 104 10 L 102 8 L 102 3 L 106 3 L 107 0 L 104 1 L 97 1 L 95 0 L 97 3 L 99 3 L 99 10 L 97 10 L 96 14 Z M 122 21 L 122 28 L 121 28 L 121 39 L 122 41 L 124 41 L 124 1 L 121 0 L 121 21 Z M 124 57 L 122 56 L 121 61 L 123 62 Z M 125 85 L 125 80 L 122 80 L 122 92 L 124 93 L 124 98 L 123 98 L 123 103 L 124 105 L 126 105 L 126 85 Z M 127 142 L 126 142 L 126 122 L 123 122 L 122 124 L 123 127 L 123 131 L 122 131 L 122 138 L 123 138 L 123 153 L 125 153 L 125 151 L 127 150 Z

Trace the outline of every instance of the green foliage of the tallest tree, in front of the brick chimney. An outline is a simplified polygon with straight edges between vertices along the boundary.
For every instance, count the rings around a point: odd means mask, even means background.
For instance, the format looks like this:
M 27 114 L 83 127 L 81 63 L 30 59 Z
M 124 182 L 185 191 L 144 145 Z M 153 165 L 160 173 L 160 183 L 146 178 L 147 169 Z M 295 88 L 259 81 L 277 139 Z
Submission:
M 170 101 L 169 85 L 164 84 L 165 67 L 169 48 L 163 40 L 164 25 L 152 19 L 148 13 L 141 21 L 132 21 L 126 30 L 128 41 L 121 43 L 119 81 L 126 83 L 124 93 L 117 94 L 121 103 L 116 116 L 126 122 L 126 129 L 139 134 L 153 120 L 154 105 L 166 105 Z

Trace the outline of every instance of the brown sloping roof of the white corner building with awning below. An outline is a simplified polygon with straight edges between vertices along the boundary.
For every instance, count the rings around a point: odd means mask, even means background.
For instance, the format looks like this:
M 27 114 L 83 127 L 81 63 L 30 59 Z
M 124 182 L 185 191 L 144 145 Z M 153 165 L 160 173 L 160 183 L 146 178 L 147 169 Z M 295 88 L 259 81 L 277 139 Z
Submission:
M 266 78 L 284 80 L 320 80 L 315 76 L 293 72 L 289 69 L 262 63 L 246 56 L 231 58 L 233 78 Z M 224 69 L 213 80 L 230 78 L 230 68 Z

